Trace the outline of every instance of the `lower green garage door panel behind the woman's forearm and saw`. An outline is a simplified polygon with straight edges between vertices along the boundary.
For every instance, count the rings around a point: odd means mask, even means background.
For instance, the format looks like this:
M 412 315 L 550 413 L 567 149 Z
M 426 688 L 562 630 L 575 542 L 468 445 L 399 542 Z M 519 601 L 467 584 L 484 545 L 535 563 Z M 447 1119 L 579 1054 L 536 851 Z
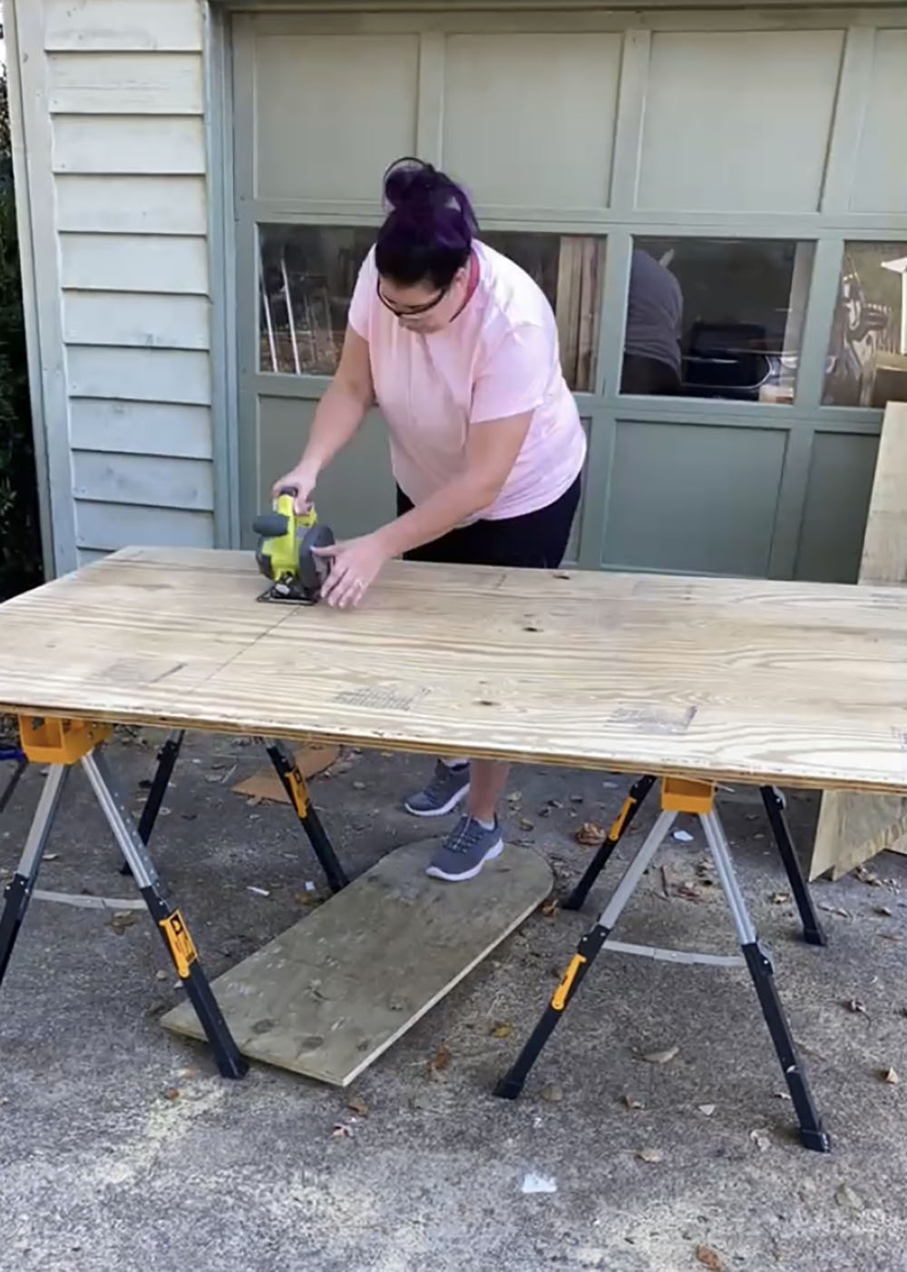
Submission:
M 260 508 L 271 506 L 271 482 L 299 459 L 317 404 L 300 398 L 260 398 Z M 318 516 L 337 538 L 366 534 L 391 520 L 394 500 L 387 429 L 380 415 L 370 411 L 356 438 L 318 482 Z

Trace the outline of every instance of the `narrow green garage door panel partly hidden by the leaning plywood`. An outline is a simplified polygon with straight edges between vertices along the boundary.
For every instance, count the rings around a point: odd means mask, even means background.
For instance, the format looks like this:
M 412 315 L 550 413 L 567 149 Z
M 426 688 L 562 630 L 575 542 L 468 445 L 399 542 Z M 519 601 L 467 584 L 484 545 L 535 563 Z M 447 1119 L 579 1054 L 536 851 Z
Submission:
M 878 449 L 865 432 L 813 438 L 795 577 L 856 583 Z

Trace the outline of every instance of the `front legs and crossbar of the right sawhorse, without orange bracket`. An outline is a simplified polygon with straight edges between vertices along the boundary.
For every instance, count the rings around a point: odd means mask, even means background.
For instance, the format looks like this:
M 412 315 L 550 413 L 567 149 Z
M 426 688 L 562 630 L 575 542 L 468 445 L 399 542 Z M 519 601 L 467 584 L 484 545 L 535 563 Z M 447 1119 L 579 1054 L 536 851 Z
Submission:
M 636 890 L 642 875 L 649 869 L 655 854 L 667 838 L 677 817 L 675 810 L 660 813 L 655 826 L 650 831 L 642 846 L 623 873 L 614 893 L 602 912 L 598 922 L 580 939 L 564 978 L 555 990 L 555 993 L 544 1009 L 533 1033 L 527 1039 L 523 1051 L 505 1077 L 497 1084 L 495 1094 L 505 1099 L 515 1099 L 525 1084 L 527 1076 L 538 1058 L 546 1042 L 553 1033 L 558 1020 L 564 1015 L 567 1005 L 572 1001 L 593 960 L 602 948 L 608 943 L 613 949 L 626 954 L 640 954 L 647 958 L 663 959 L 681 963 L 705 963 L 710 965 L 742 967 L 745 964 L 753 979 L 756 992 L 762 1006 L 762 1013 L 768 1025 L 768 1032 L 775 1043 L 781 1068 L 784 1071 L 787 1088 L 796 1116 L 800 1122 L 800 1140 L 808 1149 L 828 1152 L 831 1144 L 822 1127 L 809 1086 L 803 1072 L 796 1047 L 790 1032 L 790 1025 L 781 1006 L 773 979 L 772 962 L 758 941 L 756 929 L 747 911 L 747 906 L 740 892 L 730 850 L 721 828 L 717 814 L 710 812 L 700 813 L 700 823 L 705 831 L 706 841 L 715 862 L 715 870 L 721 884 L 728 907 L 731 913 L 734 927 L 743 958 L 723 958 L 714 954 L 698 954 L 695 951 L 663 950 L 654 946 L 625 945 L 609 941 L 625 906 Z

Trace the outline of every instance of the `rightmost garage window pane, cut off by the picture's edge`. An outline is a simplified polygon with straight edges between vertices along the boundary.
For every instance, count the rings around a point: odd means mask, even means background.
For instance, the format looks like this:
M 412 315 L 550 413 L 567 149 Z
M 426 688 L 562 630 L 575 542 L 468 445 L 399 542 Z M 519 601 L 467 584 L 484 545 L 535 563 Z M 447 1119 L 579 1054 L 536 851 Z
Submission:
M 827 406 L 907 398 L 907 242 L 846 243 L 826 363 Z

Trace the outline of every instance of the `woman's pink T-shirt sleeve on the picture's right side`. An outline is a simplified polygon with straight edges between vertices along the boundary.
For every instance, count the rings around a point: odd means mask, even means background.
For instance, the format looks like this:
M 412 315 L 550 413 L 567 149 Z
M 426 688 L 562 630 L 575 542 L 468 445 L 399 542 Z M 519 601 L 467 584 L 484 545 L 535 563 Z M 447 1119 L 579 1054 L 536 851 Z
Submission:
M 469 422 L 536 411 L 551 380 L 551 337 L 543 327 L 514 327 L 480 370 L 472 388 Z

